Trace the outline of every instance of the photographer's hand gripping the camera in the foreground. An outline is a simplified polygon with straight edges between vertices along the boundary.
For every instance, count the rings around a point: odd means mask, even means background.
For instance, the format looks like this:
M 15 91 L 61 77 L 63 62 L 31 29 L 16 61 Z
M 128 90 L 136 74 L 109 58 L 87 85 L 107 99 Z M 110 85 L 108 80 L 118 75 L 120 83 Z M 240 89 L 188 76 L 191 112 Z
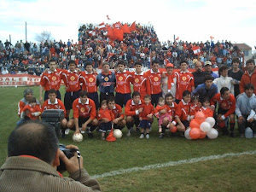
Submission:
M 78 148 L 78 147 L 75 145 L 67 145 L 66 148 Z M 60 159 L 64 162 L 67 172 L 69 174 L 73 174 L 73 172 L 77 172 L 79 169 L 82 169 L 84 167 L 83 157 L 80 156 L 80 160 L 79 160 L 78 154 L 76 152 L 74 153 L 74 156 L 72 158 L 68 159 L 67 156 L 61 151 Z M 79 167 L 79 161 L 80 161 L 80 167 Z

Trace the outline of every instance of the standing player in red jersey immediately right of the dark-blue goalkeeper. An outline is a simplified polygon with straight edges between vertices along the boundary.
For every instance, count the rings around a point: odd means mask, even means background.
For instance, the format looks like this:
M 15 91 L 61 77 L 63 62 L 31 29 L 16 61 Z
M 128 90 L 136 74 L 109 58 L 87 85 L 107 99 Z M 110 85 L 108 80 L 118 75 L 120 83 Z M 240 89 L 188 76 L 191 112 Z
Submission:
M 118 62 L 118 72 L 115 73 L 115 102 L 123 108 L 131 99 L 131 73 L 125 69 L 125 61 Z

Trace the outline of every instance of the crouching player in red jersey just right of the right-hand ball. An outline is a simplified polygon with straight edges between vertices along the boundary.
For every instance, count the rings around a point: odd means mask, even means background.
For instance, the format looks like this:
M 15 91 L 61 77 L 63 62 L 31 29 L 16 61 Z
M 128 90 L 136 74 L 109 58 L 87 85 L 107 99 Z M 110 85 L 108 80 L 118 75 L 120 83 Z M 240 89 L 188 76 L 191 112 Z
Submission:
M 133 125 L 136 127 L 139 125 L 139 114 L 143 113 L 143 104 L 141 100 L 141 95 L 139 92 L 135 91 L 132 93 L 132 99 L 130 99 L 125 105 L 125 116 L 126 116 L 126 126 L 128 129 L 127 136 L 131 136 L 131 131 Z

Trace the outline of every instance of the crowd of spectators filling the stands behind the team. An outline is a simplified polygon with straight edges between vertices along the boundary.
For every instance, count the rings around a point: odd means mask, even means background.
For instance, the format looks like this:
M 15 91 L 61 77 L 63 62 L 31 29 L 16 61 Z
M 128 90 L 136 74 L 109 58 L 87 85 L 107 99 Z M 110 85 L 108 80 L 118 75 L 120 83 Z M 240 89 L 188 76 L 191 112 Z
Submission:
M 199 46 L 201 53 L 194 54 L 193 46 Z M 0 40 L 0 72 L 6 73 L 29 73 L 40 75 L 48 67 L 48 61 L 55 59 L 60 68 L 67 69 L 70 60 L 76 61 L 81 71 L 84 71 L 86 61 L 92 61 L 94 67 L 99 67 L 101 56 L 100 50 L 106 48 L 103 59 L 107 60 L 110 67 L 114 67 L 116 61 L 122 59 L 128 67 L 133 67 L 135 61 L 142 61 L 143 67 L 150 67 L 152 60 L 157 59 L 160 65 L 172 62 L 174 67 L 185 59 L 189 67 L 194 68 L 196 61 L 212 61 L 212 67 L 227 65 L 230 67 L 233 57 L 239 57 L 242 61 L 242 52 L 236 45 L 228 41 L 213 40 L 203 43 L 191 43 L 188 41 L 174 40 L 160 42 L 154 31 L 154 26 L 141 26 L 137 24 L 137 30 L 124 35 L 123 41 L 110 40 L 106 31 L 98 29 L 91 24 L 80 26 L 79 41 L 68 39 L 67 43 L 53 41 L 36 43 L 23 43 L 22 40 L 11 44 L 8 39 L 5 43 Z

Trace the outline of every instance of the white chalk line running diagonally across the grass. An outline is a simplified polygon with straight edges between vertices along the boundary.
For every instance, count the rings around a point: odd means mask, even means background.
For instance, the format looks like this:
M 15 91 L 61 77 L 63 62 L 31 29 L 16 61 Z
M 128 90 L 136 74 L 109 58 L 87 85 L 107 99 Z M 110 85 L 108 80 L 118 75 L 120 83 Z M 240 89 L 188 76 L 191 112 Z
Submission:
M 129 172 L 145 171 L 145 170 L 162 168 L 162 167 L 166 167 L 166 166 L 178 166 L 178 165 L 197 163 L 197 162 L 207 161 L 207 160 L 219 160 L 219 159 L 223 159 L 226 157 L 236 157 L 236 156 L 241 156 L 241 155 L 246 155 L 246 154 L 256 154 L 256 151 L 245 151 L 245 152 L 236 153 L 236 154 L 235 153 L 216 154 L 216 155 L 210 155 L 210 156 L 205 156 L 205 157 L 192 158 L 192 159 L 188 159 L 188 160 L 169 161 L 169 162 L 161 163 L 161 164 L 158 163 L 158 164 L 153 164 L 153 165 L 149 165 L 149 166 L 132 167 L 132 168 L 128 168 L 128 169 L 119 169 L 119 170 L 112 171 L 112 172 L 104 172 L 100 175 L 94 175 L 92 177 L 93 178 L 111 177 L 111 176 L 129 173 Z

